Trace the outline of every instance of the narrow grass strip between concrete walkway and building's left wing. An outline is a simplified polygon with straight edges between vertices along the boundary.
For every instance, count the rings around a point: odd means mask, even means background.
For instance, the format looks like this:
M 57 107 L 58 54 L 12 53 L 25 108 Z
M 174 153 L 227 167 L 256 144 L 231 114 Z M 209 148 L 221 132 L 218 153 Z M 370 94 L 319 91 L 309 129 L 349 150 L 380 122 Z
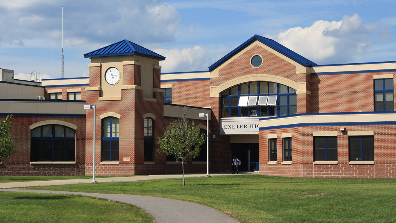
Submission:
M 142 176 L 142 175 L 134 175 Z M 132 176 L 96 176 L 95 178 L 105 177 L 132 177 Z M 0 176 L 0 183 L 9 182 L 24 182 L 24 181 L 56 181 L 56 180 L 69 180 L 69 179 L 89 179 L 92 176 Z

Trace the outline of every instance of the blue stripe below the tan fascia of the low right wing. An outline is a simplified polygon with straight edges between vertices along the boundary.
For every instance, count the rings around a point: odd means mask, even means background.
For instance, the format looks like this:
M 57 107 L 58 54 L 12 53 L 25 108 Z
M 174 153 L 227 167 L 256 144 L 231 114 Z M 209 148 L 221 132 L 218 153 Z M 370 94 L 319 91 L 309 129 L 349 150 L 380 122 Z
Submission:
M 270 127 L 260 127 L 259 130 L 285 129 L 285 128 L 292 128 L 292 127 L 308 127 L 308 126 L 337 126 L 337 125 L 396 125 L 396 121 L 298 123 L 298 124 L 292 124 L 292 125 L 278 125 L 278 126 L 270 126 Z

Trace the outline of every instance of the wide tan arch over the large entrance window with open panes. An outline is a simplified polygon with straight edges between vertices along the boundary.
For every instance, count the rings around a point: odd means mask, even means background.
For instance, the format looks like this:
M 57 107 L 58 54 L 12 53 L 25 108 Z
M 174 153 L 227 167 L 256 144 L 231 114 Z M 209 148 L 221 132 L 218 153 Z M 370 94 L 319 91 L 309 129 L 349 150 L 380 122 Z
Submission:
M 290 79 L 275 76 L 275 75 L 269 75 L 269 74 L 251 74 L 251 75 L 245 75 L 242 77 L 234 78 L 230 81 L 227 81 L 226 83 L 223 83 L 223 84 L 217 86 L 218 87 L 217 92 L 221 93 L 224 90 L 227 90 L 228 88 L 234 87 L 235 85 L 240 85 L 243 83 L 248 83 L 248 82 L 253 82 L 253 81 L 268 81 L 268 82 L 280 83 L 282 85 L 286 85 L 288 87 L 291 87 L 291 88 L 297 90 L 297 82 L 294 82 Z M 212 90 L 212 87 L 211 87 L 211 90 Z M 216 93 L 216 92 L 213 92 L 213 93 Z

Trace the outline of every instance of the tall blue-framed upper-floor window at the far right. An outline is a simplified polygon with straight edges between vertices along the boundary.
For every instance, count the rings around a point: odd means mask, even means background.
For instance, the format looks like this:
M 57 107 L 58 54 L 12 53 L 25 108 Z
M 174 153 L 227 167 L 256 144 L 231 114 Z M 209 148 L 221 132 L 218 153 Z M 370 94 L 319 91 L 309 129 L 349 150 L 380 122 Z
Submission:
M 374 110 L 393 111 L 393 79 L 374 80 Z

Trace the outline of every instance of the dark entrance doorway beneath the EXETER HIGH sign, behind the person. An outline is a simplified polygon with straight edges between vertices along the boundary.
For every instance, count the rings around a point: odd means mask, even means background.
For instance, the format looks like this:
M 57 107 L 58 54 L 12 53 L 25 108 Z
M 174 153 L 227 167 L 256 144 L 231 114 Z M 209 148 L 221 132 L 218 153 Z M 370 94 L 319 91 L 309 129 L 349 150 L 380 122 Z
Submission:
M 231 143 L 230 163 L 232 163 L 234 156 L 242 162 L 238 168 L 239 171 L 259 171 L 259 143 Z

